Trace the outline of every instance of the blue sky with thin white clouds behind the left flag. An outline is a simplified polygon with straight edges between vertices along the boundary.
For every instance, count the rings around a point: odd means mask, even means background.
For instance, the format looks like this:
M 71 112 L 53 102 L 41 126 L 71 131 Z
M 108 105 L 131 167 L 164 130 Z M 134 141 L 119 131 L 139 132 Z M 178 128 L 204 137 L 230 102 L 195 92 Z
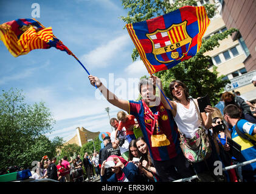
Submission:
M 33 3 L 40 5 L 40 18 L 91 75 L 98 76 L 122 99 L 138 97 L 137 81 L 148 75 L 140 61 L 132 62 L 133 42 L 120 16 L 126 16 L 120 0 L 0 1 L 0 24 L 32 18 Z M 32 50 L 14 58 L 0 41 L 0 89 L 21 89 L 26 102 L 43 101 L 56 120 L 50 139 L 65 141 L 76 127 L 92 132 L 111 132 L 110 117 L 120 110 L 100 96 L 78 62 L 55 48 Z

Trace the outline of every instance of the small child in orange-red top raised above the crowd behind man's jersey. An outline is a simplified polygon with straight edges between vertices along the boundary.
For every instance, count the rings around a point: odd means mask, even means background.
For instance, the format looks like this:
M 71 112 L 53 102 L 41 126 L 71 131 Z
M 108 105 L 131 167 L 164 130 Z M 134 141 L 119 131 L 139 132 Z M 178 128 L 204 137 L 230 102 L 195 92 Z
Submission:
M 117 119 L 119 120 L 119 126 L 116 130 L 115 139 L 117 139 L 117 131 L 122 130 L 123 127 L 126 129 L 126 139 L 129 143 L 131 140 L 136 139 L 136 136 L 133 133 L 133 129 L 134 127 L 139 127 L 139 124 L 134 121 L 135 117 L 133 115 L 126 115 L 126 113 L 123 111 L 119 111 L 117 113 Z

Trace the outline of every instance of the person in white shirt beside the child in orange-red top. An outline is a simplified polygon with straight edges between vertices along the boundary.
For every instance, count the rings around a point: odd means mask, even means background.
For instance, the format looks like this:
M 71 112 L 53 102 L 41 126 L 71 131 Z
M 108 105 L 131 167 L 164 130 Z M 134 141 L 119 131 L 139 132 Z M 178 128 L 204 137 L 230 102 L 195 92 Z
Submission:
M 117 147 L 119 147 L 123 159 L 127 161 L 129 157 L 129 142 L 126 139 L 125 129 L 122 128 L 121 130 L 117 130 L 119 126 L 119 122 L 116 118 L 110 119 L 110 125 L 115 129 L 113 132 L 111 132 L 111 135 L 110 135 L 112 147 L 114 149 L 117 149 Z M 116 133 L 117 133 L 117 139 L 116 139 Z

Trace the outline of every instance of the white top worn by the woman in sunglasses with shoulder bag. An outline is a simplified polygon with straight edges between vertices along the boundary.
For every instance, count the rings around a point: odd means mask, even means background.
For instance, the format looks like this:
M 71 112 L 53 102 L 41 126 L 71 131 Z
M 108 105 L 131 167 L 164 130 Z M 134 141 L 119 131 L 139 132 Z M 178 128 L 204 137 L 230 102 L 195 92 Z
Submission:
M 185 135 L 186 138 L 193 138 L 198 127 L 201 125 L 195 104 L 192 99 L 190 99 L 189 109 L 185 108 L 184 105 L 179 102 L 176 102 L 176 104 L 177 112 L 174 119 L 178 125 L 179 131 L 182 135 Z

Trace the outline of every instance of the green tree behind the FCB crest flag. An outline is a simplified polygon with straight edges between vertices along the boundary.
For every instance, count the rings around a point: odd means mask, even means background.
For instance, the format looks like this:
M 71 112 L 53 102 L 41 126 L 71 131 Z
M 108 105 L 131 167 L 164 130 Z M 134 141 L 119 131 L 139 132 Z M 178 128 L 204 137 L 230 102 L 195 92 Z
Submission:
M 172 12 L 185 5 L 196 5 L 196 1 L 181 0 L 176 1 L 175 4 L 170 4 L 169 1 L 165 0 L 122 0 L 122 5 L 123 8 L 128 9 L 128 14 L 127 16 L 122 16 L 121 19 L 126 23 L 134 23 Z M 215 5 L 206 4 L 204 7 L 206 8 L 209 18 L 212 18 L 216 9 Z M 227 38 L 227 36 L 235 31 L 237 31 L 237 29 L 230 28 L 223 33 L 213 35 L 209 39 L 203 40 L 201 49 L 193 58 L 181 62 L 169 70 L 157 72 L 155 75 L 161 78 L 167 97 L 170 98 L 168 85 L 174 79 L 178 79 L 185 82 L 189 87 L 190 95 L 193 96 L 193 98 L 204 96 L 208 93 L 212 104 L 218 102 L 218 94 L 223 91 L 223 87 L 229 81 L 223 80 L 222 78 L 224 76 L 218 77 L 215 66 L 213 66 L 212 72 L 209 71 L 212 61 L 210 56 L 204 53 L 218 47 L 220 45 L 219 41 Z M 133 49 L 132 60 L 136 61 L 138 57 L 139 53 L 136 49 Z

